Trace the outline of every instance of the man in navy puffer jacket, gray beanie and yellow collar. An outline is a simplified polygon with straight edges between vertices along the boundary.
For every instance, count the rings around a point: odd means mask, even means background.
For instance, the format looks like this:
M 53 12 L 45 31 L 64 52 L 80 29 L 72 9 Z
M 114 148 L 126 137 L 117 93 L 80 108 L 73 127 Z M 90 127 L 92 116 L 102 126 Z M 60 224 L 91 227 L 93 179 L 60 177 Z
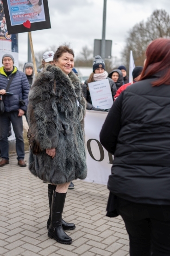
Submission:
M 16 137 L 18 164 L 20 167 L 25 167 L 22 116 L 27 110 L 30 86 L 26 75 L 13 65 L 14 58 L 11 54 L 4 54 L 2 63 L 3 67 L 0 67 L 0 94 L 3 95 L 5 112 L 0 115 L 0 150 L 2 157 L 0 167 L 9 163 L 7 137 L 10 121 Z M 10 80 L 11 84 L 6 92 Z

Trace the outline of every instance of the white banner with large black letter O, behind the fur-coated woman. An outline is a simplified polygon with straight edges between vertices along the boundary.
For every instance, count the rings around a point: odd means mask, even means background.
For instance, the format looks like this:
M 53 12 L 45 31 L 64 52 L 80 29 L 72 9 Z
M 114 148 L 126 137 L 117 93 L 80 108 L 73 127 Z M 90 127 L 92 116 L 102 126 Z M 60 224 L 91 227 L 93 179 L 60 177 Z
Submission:
M 85 181 L 105 185 L 107 185 L 113 164 L 113 155 L 103 148 L 99 138 L 107 114 L 107 112 L 87 110 L 85 117 L 88 165 L 88 175 Z

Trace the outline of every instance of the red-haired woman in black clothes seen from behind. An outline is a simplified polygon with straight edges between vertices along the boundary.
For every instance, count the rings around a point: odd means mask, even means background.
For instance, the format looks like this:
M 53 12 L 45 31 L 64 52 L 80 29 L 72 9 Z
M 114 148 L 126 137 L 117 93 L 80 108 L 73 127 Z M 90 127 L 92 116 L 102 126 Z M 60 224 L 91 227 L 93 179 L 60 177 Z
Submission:
M 140 81 L 116 99 L 100 139 L 114 155 L 107 216 L 122 216 L 130 256 L 169 256 L 169 39 L 154 40 L 147 47 Z

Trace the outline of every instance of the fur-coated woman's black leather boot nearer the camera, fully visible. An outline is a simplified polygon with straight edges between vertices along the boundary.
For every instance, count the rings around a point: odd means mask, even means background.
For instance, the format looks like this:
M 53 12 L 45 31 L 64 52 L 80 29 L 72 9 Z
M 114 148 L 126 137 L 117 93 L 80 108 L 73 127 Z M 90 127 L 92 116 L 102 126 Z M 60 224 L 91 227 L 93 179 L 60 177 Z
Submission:
M 62 227 L 62 213 L 67 193 L 53 191 L 51 203 L 51 223 L 48 229 L 48 237 L 54 238 L 58 243 L 70 244 L 71 237 L 67 236 Z

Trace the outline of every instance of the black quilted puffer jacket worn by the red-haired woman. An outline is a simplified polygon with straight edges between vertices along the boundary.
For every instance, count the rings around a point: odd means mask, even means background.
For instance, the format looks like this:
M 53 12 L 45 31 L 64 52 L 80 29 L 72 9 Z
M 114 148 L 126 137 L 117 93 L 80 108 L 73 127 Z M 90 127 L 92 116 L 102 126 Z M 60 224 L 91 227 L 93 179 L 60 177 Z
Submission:
M 154 77 L 127 87 L 113 104 L 101 143 L 114 154 L 108 189 L 128 201 L 170 205 L 170 85 Z

